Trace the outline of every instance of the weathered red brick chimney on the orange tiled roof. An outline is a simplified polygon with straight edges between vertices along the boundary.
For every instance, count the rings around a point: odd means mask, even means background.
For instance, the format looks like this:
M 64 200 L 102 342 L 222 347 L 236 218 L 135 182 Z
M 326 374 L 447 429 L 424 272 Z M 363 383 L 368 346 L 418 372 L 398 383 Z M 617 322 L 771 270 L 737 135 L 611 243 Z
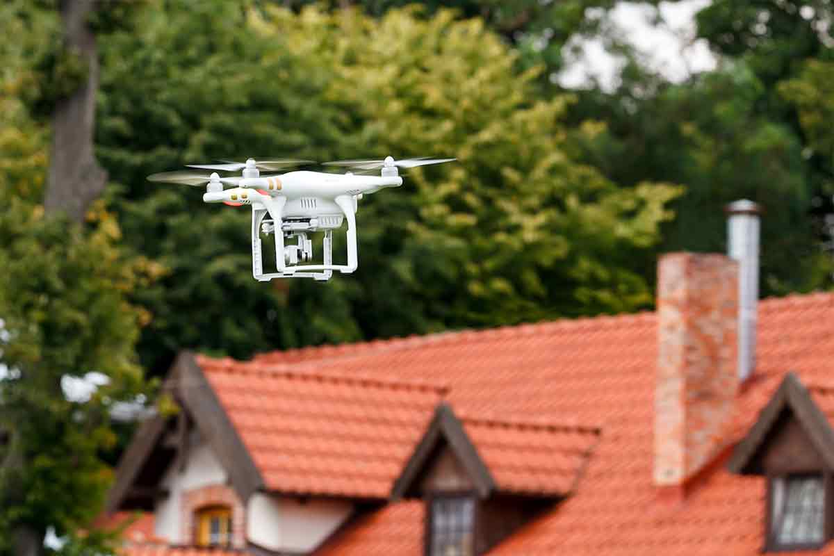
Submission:
M 736 373 L 738 263 L 670 253 L 657 267 L 655 470 L 680 486 L 725 447 Z

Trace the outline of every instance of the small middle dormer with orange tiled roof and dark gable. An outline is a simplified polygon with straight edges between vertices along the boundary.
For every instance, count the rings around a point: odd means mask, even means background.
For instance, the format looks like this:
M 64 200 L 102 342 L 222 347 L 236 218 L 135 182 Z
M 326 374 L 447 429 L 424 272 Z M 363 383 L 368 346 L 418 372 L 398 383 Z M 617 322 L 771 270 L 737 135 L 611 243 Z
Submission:
M 440 403 L 394 483 L 425 503 L 426 556 L 477 556 L 570 495 L 597 428 L 458 418 Z

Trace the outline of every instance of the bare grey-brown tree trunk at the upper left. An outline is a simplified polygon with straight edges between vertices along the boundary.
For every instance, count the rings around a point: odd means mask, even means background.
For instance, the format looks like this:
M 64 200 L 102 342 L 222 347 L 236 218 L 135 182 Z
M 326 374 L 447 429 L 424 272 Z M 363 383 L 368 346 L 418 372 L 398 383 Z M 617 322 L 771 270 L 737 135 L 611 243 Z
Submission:
M 68 98 L 58 100 L 53 113 L 52 153 L 49 159 L 47 213 L 63 211 L 81 222 L 90 203 L 102 192 L 107 173 L 93 153 L 98 51 L 88 28 L 95 0 L 62 0 L 64 48 L 87 63 L 87 79 Z

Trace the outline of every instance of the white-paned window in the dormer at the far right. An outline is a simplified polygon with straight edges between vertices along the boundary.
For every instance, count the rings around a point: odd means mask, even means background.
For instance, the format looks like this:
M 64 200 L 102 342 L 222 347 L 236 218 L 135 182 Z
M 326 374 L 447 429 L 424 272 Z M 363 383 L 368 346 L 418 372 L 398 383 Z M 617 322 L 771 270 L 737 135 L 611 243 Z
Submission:
M 813 548 L 825 542 L 825 493 L 821 473 L 771 478 L 772 548 Z

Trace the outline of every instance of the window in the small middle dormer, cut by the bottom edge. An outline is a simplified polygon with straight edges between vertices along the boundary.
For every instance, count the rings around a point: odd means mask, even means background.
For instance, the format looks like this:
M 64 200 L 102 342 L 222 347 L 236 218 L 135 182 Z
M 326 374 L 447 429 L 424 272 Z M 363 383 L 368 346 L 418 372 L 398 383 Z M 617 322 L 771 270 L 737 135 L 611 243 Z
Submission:
M 429 556 L 473 556 L 475 499 L 439 496 L 430 505 Z

